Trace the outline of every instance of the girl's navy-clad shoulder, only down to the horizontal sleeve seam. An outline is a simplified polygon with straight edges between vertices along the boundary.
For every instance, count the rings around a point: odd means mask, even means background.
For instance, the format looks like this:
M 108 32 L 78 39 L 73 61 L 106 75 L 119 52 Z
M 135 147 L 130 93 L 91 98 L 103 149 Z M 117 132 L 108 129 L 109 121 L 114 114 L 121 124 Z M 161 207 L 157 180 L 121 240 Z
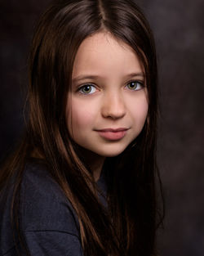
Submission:
M 46 164 L 26 164 L 20 190 L 20 222 L 24 231 L 79 234 L 78 218 Z

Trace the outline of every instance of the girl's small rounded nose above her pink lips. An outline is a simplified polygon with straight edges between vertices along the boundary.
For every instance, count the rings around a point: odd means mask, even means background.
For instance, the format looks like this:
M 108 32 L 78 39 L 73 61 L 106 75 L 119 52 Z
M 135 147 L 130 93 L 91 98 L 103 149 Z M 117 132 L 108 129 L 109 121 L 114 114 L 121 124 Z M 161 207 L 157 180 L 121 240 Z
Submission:
M 120 93 L 109 93 L 103 98 L 101 114 L 104 118 L 121 119 L 126 115 L 126 106 Z

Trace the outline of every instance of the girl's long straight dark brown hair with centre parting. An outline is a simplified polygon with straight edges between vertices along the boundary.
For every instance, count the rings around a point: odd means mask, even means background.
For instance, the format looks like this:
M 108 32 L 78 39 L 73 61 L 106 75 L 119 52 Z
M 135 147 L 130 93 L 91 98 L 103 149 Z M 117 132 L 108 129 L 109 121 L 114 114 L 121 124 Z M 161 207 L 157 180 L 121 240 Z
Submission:
M 78 155 L 65 122 L 78 47 L 103 30 L 130 45 L 139 56 L 149 96 L 148 117 L 140 135 L 121 155 L 105 161 L 109 214 L 98 202 L 91 170 Z M 33 37 L 28 101 L 26 135 L 0 177 L 1 188 L 16 173 L 13 215 L 24 164 L 35 152 L 48 164 L 51 176 L 78 214 L 84 255 L 156 255 L 156 229 L 162 221 L 156 192 L 157 177 L 161 185 L 156 163 L 157 60 L 153 34 L 140 8 L 131 0 L 54 2 L 42 15 Z

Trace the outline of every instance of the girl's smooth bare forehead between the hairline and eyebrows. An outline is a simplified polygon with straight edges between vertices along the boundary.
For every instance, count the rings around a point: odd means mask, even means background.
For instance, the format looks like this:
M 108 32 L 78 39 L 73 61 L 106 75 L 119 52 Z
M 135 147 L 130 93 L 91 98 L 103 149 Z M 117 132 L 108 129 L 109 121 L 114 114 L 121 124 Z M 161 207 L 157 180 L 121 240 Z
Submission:
M 86 38 L 73 64 L 73 77 L 81 74 L 126 75 L 127 72 L 143 72 L 143 66 L 134 50 L 109 32 Z

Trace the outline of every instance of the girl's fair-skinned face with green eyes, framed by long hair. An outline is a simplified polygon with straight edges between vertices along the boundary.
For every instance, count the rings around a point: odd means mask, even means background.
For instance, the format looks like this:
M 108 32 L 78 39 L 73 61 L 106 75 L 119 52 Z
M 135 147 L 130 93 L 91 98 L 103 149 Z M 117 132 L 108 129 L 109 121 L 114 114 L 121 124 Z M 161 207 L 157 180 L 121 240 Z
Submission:
M 148 113 L 145 75 L 126 43 L 100 32 L 78 49 L 66 115 L 73 140 L 90 154 L 111 157 L 137 137 Z

